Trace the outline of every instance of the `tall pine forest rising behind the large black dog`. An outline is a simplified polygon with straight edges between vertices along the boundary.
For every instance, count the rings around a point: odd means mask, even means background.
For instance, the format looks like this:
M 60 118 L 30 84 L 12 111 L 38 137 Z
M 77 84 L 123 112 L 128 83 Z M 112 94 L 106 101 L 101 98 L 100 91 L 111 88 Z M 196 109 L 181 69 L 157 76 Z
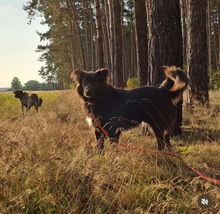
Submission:
M 30 23 L 42 16 L 49 27 L 38 32 L 46 41 L 37 48 L 46 63 L 39 74 L 62 89 L 72 70 L 100 67 L 118 87 L 132 77 L 159 85 L 163 65 L 186 68 L 192 85 L 202 79 L 194 93 L 220 85 L 219 0 L 30 0 L 23 8 Z

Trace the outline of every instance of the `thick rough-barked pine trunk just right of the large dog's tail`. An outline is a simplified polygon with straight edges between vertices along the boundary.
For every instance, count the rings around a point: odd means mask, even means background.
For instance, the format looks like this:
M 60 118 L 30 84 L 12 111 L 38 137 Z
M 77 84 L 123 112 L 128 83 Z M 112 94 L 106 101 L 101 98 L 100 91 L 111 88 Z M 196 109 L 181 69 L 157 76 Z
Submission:
M 193 106 L 194 100 L 203 105 L 209 102 L 206 13 L 207 0 L 187 0 L 189 107 Z

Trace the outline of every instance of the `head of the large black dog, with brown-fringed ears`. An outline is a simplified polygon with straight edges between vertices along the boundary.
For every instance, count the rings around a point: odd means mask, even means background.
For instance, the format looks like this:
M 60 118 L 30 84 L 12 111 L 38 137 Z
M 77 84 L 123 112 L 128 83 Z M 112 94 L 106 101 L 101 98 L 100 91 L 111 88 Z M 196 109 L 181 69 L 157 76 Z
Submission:
M 105 68 L 96 72 L 75 70 L 71 73 L 71 78 L 78 82 L 78 94 L 88 99 L 96 98 L 100 95 L 106 86 L 107 76 L 108 70 Z

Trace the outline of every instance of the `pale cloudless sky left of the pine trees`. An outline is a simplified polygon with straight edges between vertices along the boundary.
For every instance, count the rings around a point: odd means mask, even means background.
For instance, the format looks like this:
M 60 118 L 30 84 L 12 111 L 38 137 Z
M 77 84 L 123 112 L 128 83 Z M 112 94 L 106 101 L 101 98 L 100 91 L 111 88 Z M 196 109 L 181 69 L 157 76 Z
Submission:
M 13 77 L 18 77 L 24 85 L 29 80 L 44 82 L 38 70 L 44 66 L 38 61 L 42 53 L 36 49 L 40 37 L 36 31 L 44 33 L 47 26 L 36 18 L 28 24 L 27 12 L 22 9 L 28 0 L 0 1 L 0 88 L 11 87 Z

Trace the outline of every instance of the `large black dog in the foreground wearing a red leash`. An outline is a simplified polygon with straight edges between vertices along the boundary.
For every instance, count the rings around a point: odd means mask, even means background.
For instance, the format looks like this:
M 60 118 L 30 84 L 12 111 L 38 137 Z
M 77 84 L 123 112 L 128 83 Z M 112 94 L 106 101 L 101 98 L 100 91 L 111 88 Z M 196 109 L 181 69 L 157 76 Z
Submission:
M 170 134 L 175 123 L 174 109 L 186 89 L 188 78 L 185 72 L 175 66 L 165 67 L 166 80 L 157 87 L 140 87 L 120 90 L 106 82 L 108 70 L 96 72 L 75 70 L 71 74 L 77 80 L 77 92 L 84 101 L 87 116 L 90 117 L 98 141 L 98 147 L 104 148 L 105 135 L 110 142 L 118 142 L 122 130 L 148 123 L 157 138 L 158 149 L 166 146 L 171 149 Z M 97 119 L 94 121 L 92 114 Z

